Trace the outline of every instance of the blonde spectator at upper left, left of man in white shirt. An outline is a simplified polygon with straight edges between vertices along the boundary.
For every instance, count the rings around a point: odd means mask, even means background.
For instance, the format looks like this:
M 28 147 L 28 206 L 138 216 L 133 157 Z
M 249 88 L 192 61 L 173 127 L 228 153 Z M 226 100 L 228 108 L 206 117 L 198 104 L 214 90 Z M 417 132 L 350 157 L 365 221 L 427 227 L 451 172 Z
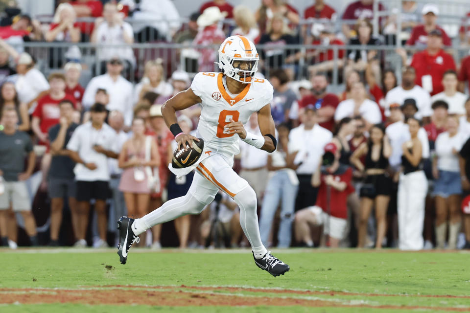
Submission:
M 69 3 L 61 3 L 55 10 L 54 22 L 49 25 L 46 38 L 47 42 L 63 41 L 78 43 L 80 41 L 80 28 L 75 22 L 76 15 Z

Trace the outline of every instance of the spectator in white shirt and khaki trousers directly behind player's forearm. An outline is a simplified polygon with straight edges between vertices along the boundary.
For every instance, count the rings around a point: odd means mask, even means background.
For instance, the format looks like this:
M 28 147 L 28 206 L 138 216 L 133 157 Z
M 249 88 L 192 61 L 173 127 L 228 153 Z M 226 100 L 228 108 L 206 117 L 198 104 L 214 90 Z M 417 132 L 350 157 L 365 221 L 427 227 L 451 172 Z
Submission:
M 245 129 L 247 132 L 262 136 L 258 127 L 258 113 L 251 114 Z M 268 180 L 268 170 L 266 168 L 268 153 L 240 140 L 240 155 L 240 177 L 246 179 L 253 187 L 258 203 L 261 203 L 262 194 Z

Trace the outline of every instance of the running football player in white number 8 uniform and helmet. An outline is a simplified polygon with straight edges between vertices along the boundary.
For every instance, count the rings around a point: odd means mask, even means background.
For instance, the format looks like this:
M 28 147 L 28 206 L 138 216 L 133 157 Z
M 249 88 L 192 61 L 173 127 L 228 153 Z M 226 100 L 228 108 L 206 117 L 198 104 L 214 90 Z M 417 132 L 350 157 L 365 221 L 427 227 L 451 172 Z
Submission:
M 128 250 L 134 241 L 138 241 L 139 234 L 153 225 L 187 214 L 199 214 L 221 190 L 233 198 L 240 208 L 240 224 L 252 246 L 256 265 L 273 276 L 289 270 L 287 264 L 274 257 L 261 243 L 255 191 L 232 169 L 234 155 L 239 153 L 239 138 L 267 152 L 276 149 L 270 107 L 273 87 L 267 80 L 255 78 L 258 52 L 245 37 L 228 37 L 220 45 L 218 54 L 217 64 L 222 72 L 196 74 L 189 89 L 177 93 L 162 107 L 166 125 L 181 150 L 192 148 L 193 140 L 199 139 L 181 131 L 175 112 L 196 103 L 201 104 L 196 133 L 204 140 L 201 157 L 186 168 L 176 169 L 169 165 L 177 177 L 193 169 L 196 169 L 197 175 L 186 196 L 167 201 L 140 219 L 119 219 L 118 255 L 122 264 L 126 263 Z M 243 127 L 253 112 L 258 113 L 259 130 L 263 135 L 250 134 Z

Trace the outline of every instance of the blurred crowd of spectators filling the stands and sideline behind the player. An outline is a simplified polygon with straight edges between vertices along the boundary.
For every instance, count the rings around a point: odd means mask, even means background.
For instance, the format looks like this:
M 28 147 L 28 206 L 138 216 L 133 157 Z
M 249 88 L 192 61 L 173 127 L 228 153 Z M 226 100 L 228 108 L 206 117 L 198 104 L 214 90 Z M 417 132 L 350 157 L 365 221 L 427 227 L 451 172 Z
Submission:
M 374 32 L 374 0 L 343 12 L 312 0 L 303 13 L 284 0 L 254 12 L 214 0 L 182 22 L 171 0 L 155 1 L 57 1 L 50 23 L 0 1 L 2 246 L 114 246 L 120 216 L 185 195 L 194 173 L 176 179 L 167 168 L 176 143 L 162 104 L 193 72 L 214 70 L 212 45 L 243 35 L 261 47 L 257 75 L 274 88 L 277 150 L 240 142 L 235 156 L 257 194 L 265 246 L 470 248 L 470 56 L 449 51 L 469 44 L 467 23 L 452 38 L 438 6 L 401 1 Z M 30 41 L 69 44 L 38 60 Z M 140 64 L 132 45 L 160 42 L 197 48 L 179 50 L 177 70 L 158 45 Z M 78 43 L 96 44 L 98 62 L 87 63 Z M 386 54 L 401 67 L 388 67 Z M 200 111 L 178 112 L 184 132 L 195 133 Z M 259 133 L 256 114 L 245 127 Z M 246 246 L 238 219 L 221 193 L 139 245 Z

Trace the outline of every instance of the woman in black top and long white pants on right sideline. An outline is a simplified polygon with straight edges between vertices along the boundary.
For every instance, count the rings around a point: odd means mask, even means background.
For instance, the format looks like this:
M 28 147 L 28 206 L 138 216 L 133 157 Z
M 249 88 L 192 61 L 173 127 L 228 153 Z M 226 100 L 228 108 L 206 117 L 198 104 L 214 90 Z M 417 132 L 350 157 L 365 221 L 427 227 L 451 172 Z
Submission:
M 401 146 L 401 173 L 398 185 L 398 231 L 401 250 L 421 250 L 424 246 L 424 205 L 427 179 L 423 171 L 423 146 L 418 138 L 421 121 L 408 117 L 411 139 Z

